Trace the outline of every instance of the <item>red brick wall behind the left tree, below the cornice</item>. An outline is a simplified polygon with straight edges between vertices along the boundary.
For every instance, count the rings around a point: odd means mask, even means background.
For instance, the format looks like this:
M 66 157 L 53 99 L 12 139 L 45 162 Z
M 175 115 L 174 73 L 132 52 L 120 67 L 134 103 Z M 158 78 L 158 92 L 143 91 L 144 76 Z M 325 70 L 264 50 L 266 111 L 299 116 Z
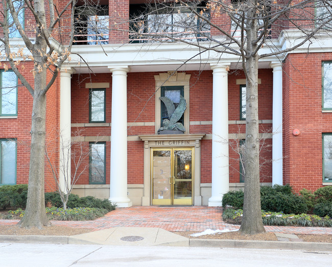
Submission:
M 3 63 L 8 64 L 8 63 Z M 33 86 L 34 78 L 31 75 L 32 62 L 21 63 L 21 74 Z M 50 80 L 50 73 L 48 80 Z M 46 143 L 51 150 L 57 149 L 57 127 L 59 125 L 59 79 L 46 93 Z M 30 130 L 33 98 L 30 92 L 21 85 L 18 80 L 17 93 L 17 118 L 0 118 L 0 138 L 17 139 L 17 175 L 16 183 L 28 183 L 30 161 Z M 58 156 L 52 158 L 55 165 L 58 164 Z M 46 163 L 46 161 L 45 161 Z M 47 163 L 46 163 L 47 164 Z M 45 190 L 54 190 L 55 183 L 50 173 L 45 171 Z

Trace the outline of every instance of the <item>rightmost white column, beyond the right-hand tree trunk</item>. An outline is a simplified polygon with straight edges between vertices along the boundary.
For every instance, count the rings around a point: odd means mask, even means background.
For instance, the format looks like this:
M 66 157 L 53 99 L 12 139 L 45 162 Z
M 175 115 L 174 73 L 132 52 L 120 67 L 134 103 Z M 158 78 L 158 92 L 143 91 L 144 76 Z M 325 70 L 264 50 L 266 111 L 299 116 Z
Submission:
M 272 107 L 272 184 L 282 185 L 282 67 L 271 62 L 273 68 Z

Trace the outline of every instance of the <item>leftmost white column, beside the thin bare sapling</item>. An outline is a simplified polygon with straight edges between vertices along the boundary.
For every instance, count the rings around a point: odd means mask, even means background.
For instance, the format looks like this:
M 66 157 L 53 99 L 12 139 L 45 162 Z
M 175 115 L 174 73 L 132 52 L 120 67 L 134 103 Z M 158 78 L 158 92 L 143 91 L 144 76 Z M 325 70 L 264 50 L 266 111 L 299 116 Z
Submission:
M 59 186 L 63 192 L 69 190 L 72 181 L 70 170 L 70 144 L 72 142 L 70 81 L 73 73 L 74 71 L 71 68 L 62 68 L 60 70 Z

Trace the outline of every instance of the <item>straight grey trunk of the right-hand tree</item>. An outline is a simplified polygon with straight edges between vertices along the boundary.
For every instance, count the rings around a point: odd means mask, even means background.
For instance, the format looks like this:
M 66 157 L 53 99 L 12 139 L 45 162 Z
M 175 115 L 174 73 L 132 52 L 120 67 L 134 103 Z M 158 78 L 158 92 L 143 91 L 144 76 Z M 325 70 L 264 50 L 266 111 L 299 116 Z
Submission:
M 250 12 L 249 12 L 250 13 Z M 248 14 L 255 16 L 255 14 Z M 251 22 L 251 23 L 250 23 Z M 247 54 L 255 51 L 257 22 L 247 25 Z M 251 24 L 251 25 L 250 25 Z M 262 212 L 260 210 L 259 187 L 259 128 L 258 128 L 258 55 L 251 54 L 246 60 L 246 157 L 243 218 L 240 231 L 245 234 L 264 233 Z

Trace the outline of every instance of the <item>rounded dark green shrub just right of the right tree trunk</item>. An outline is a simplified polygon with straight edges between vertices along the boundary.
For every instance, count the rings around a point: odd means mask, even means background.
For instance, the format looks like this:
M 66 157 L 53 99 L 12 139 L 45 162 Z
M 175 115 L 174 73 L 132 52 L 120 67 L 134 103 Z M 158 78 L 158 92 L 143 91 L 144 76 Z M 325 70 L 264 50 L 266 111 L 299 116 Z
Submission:
M 260 197 L 261 208 L 267 211 L 278 211 L 284 213 L 304 213 L 308 210 L 305 201 L 297 195 L 286 195 L 276 192 Z

